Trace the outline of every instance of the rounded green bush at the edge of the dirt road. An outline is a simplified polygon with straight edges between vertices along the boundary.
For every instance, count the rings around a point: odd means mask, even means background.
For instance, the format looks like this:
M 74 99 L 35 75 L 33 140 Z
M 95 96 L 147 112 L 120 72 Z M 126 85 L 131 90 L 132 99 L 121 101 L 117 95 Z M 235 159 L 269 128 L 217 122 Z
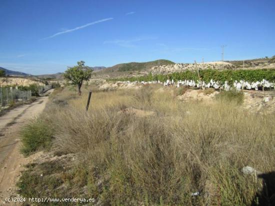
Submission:
M 37 118 L 27 124 L 21 131 L 21 152 L 28 156 L 38 149 L 48 149 L 51 146 L 53 132 L 45 121 Z

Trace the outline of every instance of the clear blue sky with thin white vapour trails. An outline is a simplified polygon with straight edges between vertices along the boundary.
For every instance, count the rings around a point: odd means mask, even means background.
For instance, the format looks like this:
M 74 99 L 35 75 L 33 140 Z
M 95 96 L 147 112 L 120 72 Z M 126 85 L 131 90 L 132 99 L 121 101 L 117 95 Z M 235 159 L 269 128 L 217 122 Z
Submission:
M 0 0 L 0 66 L 31 74 L 275 55 L 274 0 Z

